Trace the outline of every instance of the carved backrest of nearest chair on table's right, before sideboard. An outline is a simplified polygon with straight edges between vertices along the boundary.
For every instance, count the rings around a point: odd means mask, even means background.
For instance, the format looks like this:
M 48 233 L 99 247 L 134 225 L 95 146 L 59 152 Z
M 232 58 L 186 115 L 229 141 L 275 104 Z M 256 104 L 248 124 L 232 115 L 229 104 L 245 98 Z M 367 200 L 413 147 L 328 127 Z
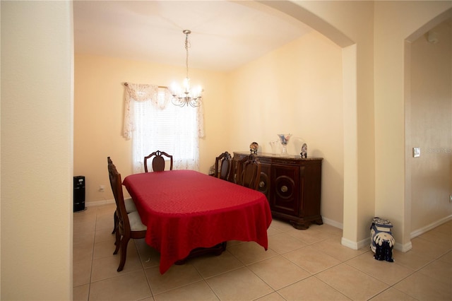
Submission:
M 261 163 L 255 154 L 239 160 L 237 163 L 237 184 L 257 190 L 260 177 Z

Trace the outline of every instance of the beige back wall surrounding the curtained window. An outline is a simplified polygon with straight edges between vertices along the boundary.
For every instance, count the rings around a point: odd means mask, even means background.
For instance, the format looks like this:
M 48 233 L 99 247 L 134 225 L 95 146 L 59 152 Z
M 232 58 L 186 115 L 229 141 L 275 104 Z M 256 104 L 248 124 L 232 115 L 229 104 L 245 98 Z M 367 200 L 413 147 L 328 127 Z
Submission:
M 170 85 L 184 78 L 184 68 L 77 54 L 75 57 L 74 175 L 86 177 L 86 201 L 112 201 L 107 173 L 110 156 L 121 176 L 132 173 L 131 140 L 122 133 L 124 83 Z M 208 173 L 215 156 L 227 148 L 230 123 L 225 74 L 190 69 L 192 79 L 204 87 L 205 138 L 200 141 L 200 171 Z M 184 107 L 181 110 L 192 110 Z M 100 192 L 105 185 L 105 192 Z M 124 190 L 124 194 L 127 191 Z

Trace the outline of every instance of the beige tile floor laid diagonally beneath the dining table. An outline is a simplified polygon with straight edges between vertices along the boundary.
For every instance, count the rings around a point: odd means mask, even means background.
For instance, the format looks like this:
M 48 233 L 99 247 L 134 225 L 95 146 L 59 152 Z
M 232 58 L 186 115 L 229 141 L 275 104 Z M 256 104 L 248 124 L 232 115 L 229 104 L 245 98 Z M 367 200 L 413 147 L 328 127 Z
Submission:
M 452 221 L 377 261 L 340 244 L 331 225 L 295 230 L 273 220 L 268 251 L 228 242 L 220 256 L 191 259 L 160 275 L 159 254 L 131 240 L 124 270 L 113 255 L 113 205 L 73 213 L 74 300 L 452 300 Z

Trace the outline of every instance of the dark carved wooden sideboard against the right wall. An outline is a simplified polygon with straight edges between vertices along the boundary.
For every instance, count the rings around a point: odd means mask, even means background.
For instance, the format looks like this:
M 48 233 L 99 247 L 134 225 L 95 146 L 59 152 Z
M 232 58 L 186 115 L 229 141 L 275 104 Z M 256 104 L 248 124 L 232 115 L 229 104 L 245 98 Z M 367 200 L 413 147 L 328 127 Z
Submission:
M 249 155 L 234 152 L 234 165 Z M 320 215 L 323 158 L 302 159 L 299 155 L 258 153 L 261 178 L 258 190 L 267 196 L 273 218 L 288 220 L 294 228 L 322 225 Z M 235 169 L 234 169 L 235 170 Z

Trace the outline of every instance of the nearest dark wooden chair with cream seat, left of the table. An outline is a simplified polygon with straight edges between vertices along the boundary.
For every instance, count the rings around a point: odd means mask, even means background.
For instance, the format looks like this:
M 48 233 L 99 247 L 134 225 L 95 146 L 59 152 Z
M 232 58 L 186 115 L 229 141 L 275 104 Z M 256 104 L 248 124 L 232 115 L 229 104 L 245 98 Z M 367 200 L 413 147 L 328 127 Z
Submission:
M 144 238 L 146 235 L 146 226 L 141 223 L 141 218 L 138 215 L 138 211 L 127 213 L 126 204 L 124 203 L 124 194 L 122 193 L 122 181 L 121 174 L 114 166 L 112 160 L 108 157 L 108 175 L 110 179 L 110 185 L 114 195 L 114 201 L 116 201 L 117 210 L 115 212 L 118 220 L 116 229 L 116 248 L 113 254 L 117 254 L 120 251 L 121 259 L 117 271 L 122 271 L 126 264 L 127 256 L 127 244 L 129 240 Z

